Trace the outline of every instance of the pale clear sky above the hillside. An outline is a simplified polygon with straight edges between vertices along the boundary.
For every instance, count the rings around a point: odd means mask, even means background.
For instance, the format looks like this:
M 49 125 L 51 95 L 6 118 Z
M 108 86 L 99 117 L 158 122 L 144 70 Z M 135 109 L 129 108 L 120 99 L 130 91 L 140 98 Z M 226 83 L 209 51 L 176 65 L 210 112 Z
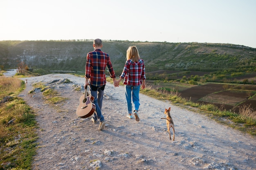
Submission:
M 256 0 L 0 0 L 0 40 L 96 38 L 256 48 Z

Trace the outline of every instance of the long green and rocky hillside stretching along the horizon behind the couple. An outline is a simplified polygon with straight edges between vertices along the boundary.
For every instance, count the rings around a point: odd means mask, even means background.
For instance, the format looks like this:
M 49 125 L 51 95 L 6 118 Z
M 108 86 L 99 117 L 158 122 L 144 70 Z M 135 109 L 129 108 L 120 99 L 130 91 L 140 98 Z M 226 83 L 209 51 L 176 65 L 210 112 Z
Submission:
M 124 67 L 126 50 L 135 45 L 146 63 L 155 70 L 256 71 L 256 48 L 234 44 L 103 41 L 117 73 Z M 0 41 L 0 65 L 16 68 L 24 61 L 30 68 L 84 72 L 92 41 Z

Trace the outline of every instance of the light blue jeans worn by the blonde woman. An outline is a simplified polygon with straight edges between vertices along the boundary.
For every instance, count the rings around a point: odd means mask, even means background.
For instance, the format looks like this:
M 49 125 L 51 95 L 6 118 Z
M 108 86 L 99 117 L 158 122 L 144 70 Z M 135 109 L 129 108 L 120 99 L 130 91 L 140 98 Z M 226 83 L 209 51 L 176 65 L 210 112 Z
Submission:
M 132 113 L 132 102 L 133 102 L 133 111 L 139 110 L 139 88 L 138 86 L 125 85 L 125 97 L 127 104 L 127 111 L 129 114 Z

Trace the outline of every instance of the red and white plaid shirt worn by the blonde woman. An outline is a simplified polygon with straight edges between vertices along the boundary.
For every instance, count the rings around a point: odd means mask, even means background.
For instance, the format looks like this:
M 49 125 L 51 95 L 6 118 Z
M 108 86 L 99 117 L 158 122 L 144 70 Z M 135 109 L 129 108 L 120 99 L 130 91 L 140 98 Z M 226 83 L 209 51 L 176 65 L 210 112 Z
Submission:
M 135 63 L 131 59 L 127 60 L 120 77 L 124 78 L 124 85 L 141 85 L 142 80 L 146 79 L 144 61 L 139 59 L 139 61 Z

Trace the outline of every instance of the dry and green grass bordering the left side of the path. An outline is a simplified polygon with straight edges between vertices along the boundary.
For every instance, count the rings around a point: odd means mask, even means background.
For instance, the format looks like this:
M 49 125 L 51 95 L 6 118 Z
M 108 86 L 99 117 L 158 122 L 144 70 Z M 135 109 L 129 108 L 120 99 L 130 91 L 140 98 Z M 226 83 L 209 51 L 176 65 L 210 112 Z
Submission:
M 1 76 L 0 82 L 0 99 L 13 97 L 0 105 L 0 170 L 29 170 L 37 145 L 35 113 L 17 97 L 25 88 L 24 81 Z

